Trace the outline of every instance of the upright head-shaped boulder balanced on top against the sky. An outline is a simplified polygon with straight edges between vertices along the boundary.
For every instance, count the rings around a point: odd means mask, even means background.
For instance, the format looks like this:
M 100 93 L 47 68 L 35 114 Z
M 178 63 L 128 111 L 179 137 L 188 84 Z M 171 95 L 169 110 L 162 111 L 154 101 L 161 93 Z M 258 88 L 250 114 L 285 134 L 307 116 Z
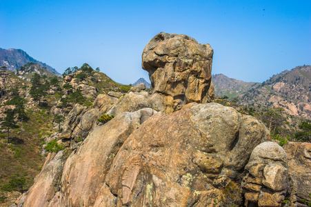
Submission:
M 185 34 L 161 32 L 150 40 L 142 66 L 149 72 L 154 99 L 165 106 L 163 112 L 174 112 L 190 102 L 212 101 L 212 55 L 209 44 Z

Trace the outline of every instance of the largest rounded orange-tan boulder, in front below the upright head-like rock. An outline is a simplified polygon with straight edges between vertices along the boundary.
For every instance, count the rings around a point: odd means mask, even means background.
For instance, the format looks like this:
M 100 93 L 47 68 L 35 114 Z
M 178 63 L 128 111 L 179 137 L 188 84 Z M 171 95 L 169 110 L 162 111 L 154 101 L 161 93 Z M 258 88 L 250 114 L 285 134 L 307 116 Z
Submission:
M 213 186 L 212 179 L 237 179 L 252 149 L 268 139 L 259 121 L 218 103 L 190 103 L 172 115 L 157 113 L 117 153 L 106 193 L 116 196 L 117 206 L 221 204 L 224 186 Z

